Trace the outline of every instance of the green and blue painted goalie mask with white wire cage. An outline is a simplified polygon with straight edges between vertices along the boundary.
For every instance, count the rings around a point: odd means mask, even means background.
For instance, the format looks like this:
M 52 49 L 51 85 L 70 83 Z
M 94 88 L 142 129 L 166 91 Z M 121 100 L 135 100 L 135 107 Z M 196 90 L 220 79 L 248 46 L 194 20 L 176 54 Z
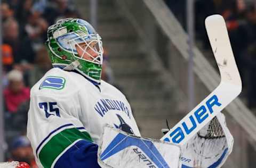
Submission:
M 82 19 L 64 19 L 47 30 L 46 46 L 53 67 L 76 70 L 100 83 L 103 48 L 99 34 Z

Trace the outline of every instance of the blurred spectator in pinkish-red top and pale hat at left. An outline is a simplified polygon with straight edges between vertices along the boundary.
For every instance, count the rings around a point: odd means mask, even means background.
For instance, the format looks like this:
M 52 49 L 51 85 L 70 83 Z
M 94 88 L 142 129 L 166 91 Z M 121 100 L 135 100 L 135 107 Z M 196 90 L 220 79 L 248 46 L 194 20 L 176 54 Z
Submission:
M 21 103 L 29 100 L 30 89 L 24 86 L 22 73 L 12 70 L 7 74 L 8 86 L 4 89 L 6 110 L 15 113 Z

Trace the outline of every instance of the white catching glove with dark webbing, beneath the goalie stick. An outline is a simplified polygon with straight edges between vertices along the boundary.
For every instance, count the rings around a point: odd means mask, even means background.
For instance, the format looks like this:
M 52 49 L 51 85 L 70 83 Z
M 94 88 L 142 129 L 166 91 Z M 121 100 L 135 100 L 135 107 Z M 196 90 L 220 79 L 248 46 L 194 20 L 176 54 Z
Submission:
M 164 131 L 168 130 L 162 129 Z M 181 146 L 179 167 L 221 167 L 232 152 L 233 143 L 225 116 L 219 113 Z

